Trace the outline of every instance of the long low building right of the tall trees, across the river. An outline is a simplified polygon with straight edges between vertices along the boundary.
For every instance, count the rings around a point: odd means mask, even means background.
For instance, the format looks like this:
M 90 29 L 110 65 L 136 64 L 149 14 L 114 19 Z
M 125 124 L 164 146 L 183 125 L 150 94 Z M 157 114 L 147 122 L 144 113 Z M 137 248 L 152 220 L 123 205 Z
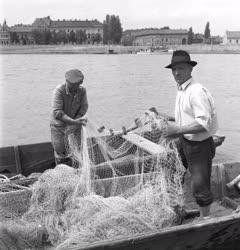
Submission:
M 161 47 L 168 45 L 187 44 L 186 29 L 142 29 L 125 31 L 125 36 L 132 40 L 135 46 Z

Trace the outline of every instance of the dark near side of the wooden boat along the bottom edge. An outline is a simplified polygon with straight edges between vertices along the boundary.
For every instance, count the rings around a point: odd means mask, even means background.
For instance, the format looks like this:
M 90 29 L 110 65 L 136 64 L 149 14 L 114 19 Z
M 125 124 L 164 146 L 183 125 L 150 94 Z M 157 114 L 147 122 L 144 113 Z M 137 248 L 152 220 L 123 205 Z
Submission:
M 197 250 L 239 249 L 240 216 L 230 215 L 197 224 L 171 227 L 151 234 L 106 241 L 83 247 L 70 246 L 68 250 Z M 63 250 L 58 248 L 58 250 Z

